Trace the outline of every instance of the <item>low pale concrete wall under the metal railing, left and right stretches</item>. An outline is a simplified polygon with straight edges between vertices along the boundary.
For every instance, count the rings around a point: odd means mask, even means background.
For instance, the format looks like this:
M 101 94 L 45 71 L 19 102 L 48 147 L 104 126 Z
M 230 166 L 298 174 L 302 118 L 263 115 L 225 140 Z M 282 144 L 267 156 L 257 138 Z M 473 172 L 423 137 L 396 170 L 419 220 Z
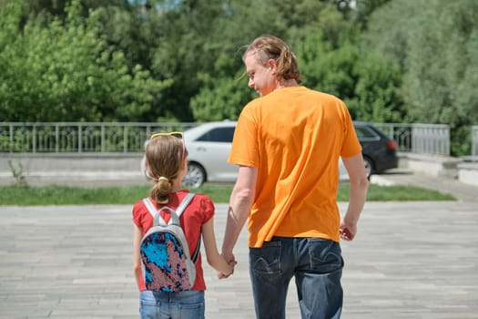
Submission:
M 478 161 L 414 153 L 401 153 L 400 167 L 435 177 L 452 178 L 478 186 Z M 15 169 L 23 167 L 28 184 L 116 185 L 147 183 L 140 170 L 141 153 L 2 154 L 0 185 L 15 183 Z

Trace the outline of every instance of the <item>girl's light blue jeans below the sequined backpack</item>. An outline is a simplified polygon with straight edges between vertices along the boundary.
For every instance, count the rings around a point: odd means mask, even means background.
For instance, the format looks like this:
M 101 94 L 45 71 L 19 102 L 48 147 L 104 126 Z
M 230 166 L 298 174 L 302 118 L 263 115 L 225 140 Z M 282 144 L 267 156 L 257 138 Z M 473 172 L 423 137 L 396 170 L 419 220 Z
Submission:
M 141 319 L 204 319 L 204 292 L 139 292 Z

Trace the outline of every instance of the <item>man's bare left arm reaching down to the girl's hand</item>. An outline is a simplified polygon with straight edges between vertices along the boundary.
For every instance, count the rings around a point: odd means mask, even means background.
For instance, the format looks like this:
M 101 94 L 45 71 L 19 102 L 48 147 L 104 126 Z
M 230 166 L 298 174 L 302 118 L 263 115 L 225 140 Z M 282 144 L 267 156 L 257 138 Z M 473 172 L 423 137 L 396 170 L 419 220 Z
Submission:
M 239 166 L 238 179 L 230 194 L 228 221 L 222 243 L 222 255 L 228 262 L 234 261 L 232 250 L 254 202 L 257 177 L 257 168 Z

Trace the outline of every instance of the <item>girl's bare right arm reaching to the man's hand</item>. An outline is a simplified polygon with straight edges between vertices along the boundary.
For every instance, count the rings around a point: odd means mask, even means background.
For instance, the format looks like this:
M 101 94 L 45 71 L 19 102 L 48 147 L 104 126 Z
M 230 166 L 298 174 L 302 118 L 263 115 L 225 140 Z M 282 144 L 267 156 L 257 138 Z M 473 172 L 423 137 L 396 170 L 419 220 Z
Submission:
M 208 222 L 202 225 L 202 239 L 208 264 L 219 273 L 225 275 L 231 274 L 234 270 L 234 265 L 237 262 L 228 263 L 224 257 L 220 255 L 216 243 L 216 235 L 214 234 L 214 218 L 211 218 Z

